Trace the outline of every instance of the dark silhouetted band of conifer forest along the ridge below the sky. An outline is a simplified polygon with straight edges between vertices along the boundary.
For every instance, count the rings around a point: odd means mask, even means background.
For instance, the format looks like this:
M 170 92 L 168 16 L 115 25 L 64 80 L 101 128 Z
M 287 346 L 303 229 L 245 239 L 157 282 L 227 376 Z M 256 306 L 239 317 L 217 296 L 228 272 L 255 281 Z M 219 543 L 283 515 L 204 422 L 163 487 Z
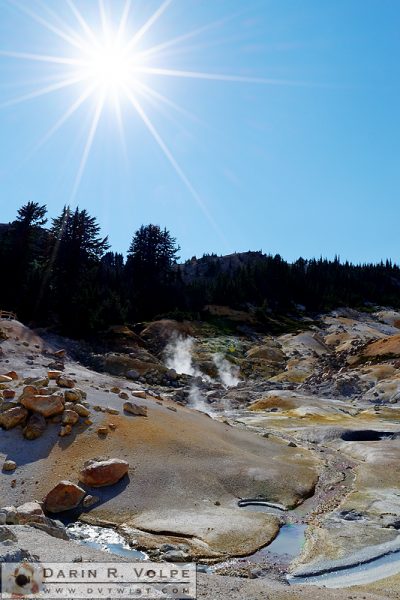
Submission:
M 197 318 L 208 304 L 250 310 L 260 322 L 299 309 L 400 305 L 400 269 L 390 261 L 290 264 L 248 252 L 178 264 L 178 255 L 176 240 L 158 225 L 140 227 L 124 258 L 86 210 L 64 207 L 49 222 L 46 206 L 29 202 L 0 226 L 0 307 L 25 322 L 84 336 L 161 315 Z

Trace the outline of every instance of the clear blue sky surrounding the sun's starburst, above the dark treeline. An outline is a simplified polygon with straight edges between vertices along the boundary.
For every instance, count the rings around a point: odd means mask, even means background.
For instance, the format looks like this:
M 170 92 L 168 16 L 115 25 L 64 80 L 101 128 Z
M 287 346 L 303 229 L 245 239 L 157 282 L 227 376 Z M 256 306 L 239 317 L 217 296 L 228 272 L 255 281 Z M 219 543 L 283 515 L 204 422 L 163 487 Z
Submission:
M 74 0 L 98 40 L 101 4 Z M 126 39 L 161 4 L 134 0 Z M 103 7 L 112 27 L 125 1 Z M 97 216 L 121 252 L 141 224 L 157 223 L 178 239 L 182 258 L 262 249 L 288 260 L 399 261 L 400 2 L 172 0 L 164 8 L 133 53 L 204 29 L 151 55 L 146 68 L 244 79 L 135 75 L 192 116 L 135 95 L 163 151 L 118 88 L 125 147 L 107 95 L 80 177 L 98 91 L 38 142 L 93 83 L 92 71 L 13 100 L 76 73 L 25 55 L 79 60 L 60 32 L 88 34 L 67 0 L 0 0 L 0 221 L 28 200 L 47 204 L 51 217 L 71 203 Z

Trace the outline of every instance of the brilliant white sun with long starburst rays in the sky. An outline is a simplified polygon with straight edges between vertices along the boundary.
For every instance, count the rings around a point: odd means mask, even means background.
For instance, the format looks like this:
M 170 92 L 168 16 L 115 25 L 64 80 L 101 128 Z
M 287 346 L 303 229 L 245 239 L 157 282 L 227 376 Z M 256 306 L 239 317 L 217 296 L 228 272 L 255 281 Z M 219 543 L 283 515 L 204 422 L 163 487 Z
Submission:
M 75 27 L 64 21 L 47 4 L 40 4 L 45 9 L 46 17 L 44 17 L 43 13 L 39 14 L 39 12 L 36 12 L 32 8 L 31 2 L 29 5 L 22 4 L 19 0 L 8 0 L 8 2 L 33 19 L 41 27 L 56 35 L 65 44 L 65 52 L 62 55 L 51 55 L 48 53 L 34 54 L 27 51 L 0 50 L 0 57 L 38 62 L 52 67 L 56 66 L 59 69 L 59 72 L 54 75 L 54 79 L 46 81 L 47 85 L 44 87 L 8 100 L 0 104 L 0 108 L 26 102 L 47 94 L 54 94 L 67 88 L 78 89 L 75 100 L 73 100 L 65 113 L 43 138 L 39 140 L 35 145 L 34 151 L 46 144 L 90 98 L 94 98 L 95 100 L 87 138 L 84 142 L 78 170 L 72 185 L 71 200 L 76 196 L 84 176 L 85 167 L 95 141 L 96 131 L 104 106 L 108 101 L 114 106 L 121 143 L 125 146 L 123 127 L 125 115 L 122 115 L 121 110 L 121 102 L 125 99 L 140 117 L 148 133 L 152 136 L 186 190 L 199 204 L 212 225 L 217 228 L 199 193 L 193 187 L 166 140 L 163 139 L 149 117 L 144 103 L 152 103 L 159 108 L 163 107 L 164 110 L 170 109 L 182 115 L 196 117 L 191 115 L 184 107 L 179 106 L 153 89 L 151 80 L 159 77 L 167 77 L 186 80 L 198 79 L 269 85 L 294 85 L 295 83 L 292 81 L 217 74 L 213 72 L 177 70 L 157 65 L 157 59 L 165 59 L 165 53 L 168 49 L 174 48 L 176 50 L 177 47 L 180 48 L 182 42 L 187 42 L 202 34 L 207 29 L 218 26 L 221 23 L 221 21 L 211 23 L 193 31 L 184 32 L 182 35 L 169 40 L 158 40 L 155 45 L 142 50 L 140 43 L 146 41 L 149 31 L 170 8 L 173 0 L 164 0 L 164 2 L 161 2 L 148 20 L 130 34 L 128 34 L 128 29 L 131 25 L 133 13 L 131 0 L 126 0 L 116 22 L 107 14 L 104 1 L 98 0 L 99 21 L 101 24 L 98 30 L 93 28 L 73 0 L 66 0 L 66 5 L 70 11 L 71 18 L 75 21 Z M 37 0 L 37 6 L 39 6 L 39 0 Z M 184 52 L 185 48 L 181 47 L 180 51 Z M 162 64 L 164 62 L 162 61 Z M 219 233 L 221 235 L 221 232 Z

